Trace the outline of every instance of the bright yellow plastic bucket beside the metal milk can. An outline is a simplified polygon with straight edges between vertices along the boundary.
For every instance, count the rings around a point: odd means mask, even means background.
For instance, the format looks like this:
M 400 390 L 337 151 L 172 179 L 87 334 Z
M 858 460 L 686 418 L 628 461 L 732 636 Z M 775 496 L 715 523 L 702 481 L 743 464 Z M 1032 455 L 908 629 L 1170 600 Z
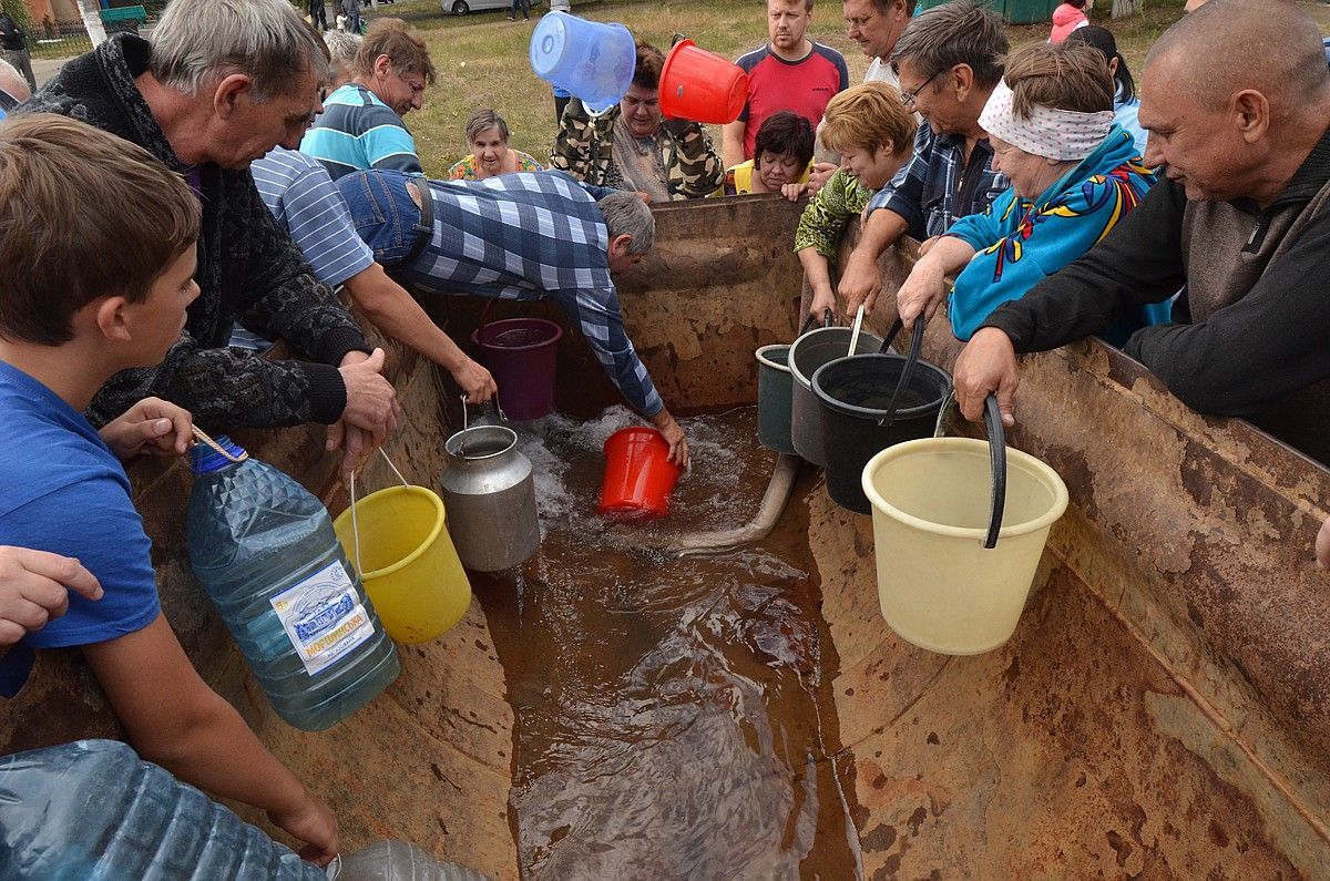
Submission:
M 352 492 L 351 507 L 338 515 L 332 530 L 394 640 L 423 643 L 466 615 L 471 583 L 444 528 L 443 500 L 430 490 L 395 486 L 359 500 Z

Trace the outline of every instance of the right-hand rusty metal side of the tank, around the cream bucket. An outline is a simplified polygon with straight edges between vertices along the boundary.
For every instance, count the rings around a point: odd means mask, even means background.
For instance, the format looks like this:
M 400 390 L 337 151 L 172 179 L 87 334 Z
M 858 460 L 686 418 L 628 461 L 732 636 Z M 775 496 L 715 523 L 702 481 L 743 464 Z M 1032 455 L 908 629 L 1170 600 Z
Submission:
M 868 874 L 1330 877 L 1330 472 L 1095 341 L 1023 357 L 1016 415 L 1071 508 L 998 652 L 895 637 L 871 522 L 811 499 Z

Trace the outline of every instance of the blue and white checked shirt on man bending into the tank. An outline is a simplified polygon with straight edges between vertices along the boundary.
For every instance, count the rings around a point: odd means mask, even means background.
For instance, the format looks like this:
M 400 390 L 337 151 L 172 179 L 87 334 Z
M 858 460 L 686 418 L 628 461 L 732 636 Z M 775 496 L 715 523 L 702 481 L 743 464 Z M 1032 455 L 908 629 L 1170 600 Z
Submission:
M 434 233 L 403 271 L 427 291 L 555 298 L 628 403 L 653 417 L 665 402 L 624 331 L 605 254 L 609 232 L 596 205 L 612 192 L 563 172 L 430 181 Z

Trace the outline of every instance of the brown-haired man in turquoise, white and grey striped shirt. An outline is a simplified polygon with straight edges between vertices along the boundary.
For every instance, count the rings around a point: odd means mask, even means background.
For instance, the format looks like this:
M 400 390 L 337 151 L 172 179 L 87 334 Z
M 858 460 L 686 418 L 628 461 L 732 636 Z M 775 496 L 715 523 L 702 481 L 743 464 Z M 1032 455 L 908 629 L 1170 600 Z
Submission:
M 430 51 L 406 23 L 376 20 L 355 56 L 355 77 L 323 100 L 301 152 L 319 160 L 332 180 L 367 169 L 423 174 L 402 117 L 420 109 L 434 80 Z

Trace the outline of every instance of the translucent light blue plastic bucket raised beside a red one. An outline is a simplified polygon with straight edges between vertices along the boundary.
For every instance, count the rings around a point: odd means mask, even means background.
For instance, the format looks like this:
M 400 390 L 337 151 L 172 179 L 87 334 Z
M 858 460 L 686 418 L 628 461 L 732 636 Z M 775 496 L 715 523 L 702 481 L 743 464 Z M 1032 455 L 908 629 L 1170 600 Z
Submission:
M 567 12 L 541 16 L 531 32 L 529 55 L 536 76 L 576 94 L 592 113 L 604 113 L 622 100 L 637 64 L 637 45 L 628 28 Z

